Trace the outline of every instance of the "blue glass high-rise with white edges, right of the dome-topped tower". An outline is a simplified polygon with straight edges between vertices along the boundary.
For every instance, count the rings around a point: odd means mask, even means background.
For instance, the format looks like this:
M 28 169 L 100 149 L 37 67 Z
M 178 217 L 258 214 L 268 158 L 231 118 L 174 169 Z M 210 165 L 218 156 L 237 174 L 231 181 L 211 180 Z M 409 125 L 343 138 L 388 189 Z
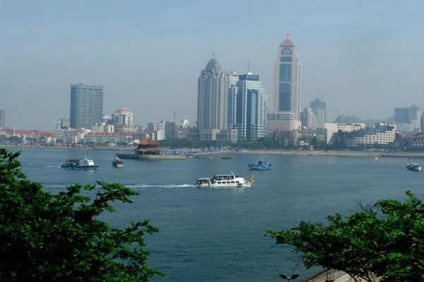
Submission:
M 231 109 L 228 123 L 237 129 L 238 139 L 258 140 L 268 134 L 268 97 L 259 75 L 239 75 L 228 101 L 231 103 L 228 104 Z

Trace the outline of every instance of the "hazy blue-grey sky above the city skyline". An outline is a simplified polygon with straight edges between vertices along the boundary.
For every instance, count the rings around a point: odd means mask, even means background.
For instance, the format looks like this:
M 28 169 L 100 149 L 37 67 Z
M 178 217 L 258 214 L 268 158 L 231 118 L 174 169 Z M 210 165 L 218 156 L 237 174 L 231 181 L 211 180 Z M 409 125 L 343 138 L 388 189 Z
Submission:
M 388 118 L 424 106 L 424 1 L 0 0 L 0 108 L 6 126 L 52 130 L 72 84 L 103 86 L 103 113 L 134 123 L 196 122 L 197 80 L 216 54 L 260 76 L 272 109 L 273 63 L 287 33 L 302 63 L 301 109 Z

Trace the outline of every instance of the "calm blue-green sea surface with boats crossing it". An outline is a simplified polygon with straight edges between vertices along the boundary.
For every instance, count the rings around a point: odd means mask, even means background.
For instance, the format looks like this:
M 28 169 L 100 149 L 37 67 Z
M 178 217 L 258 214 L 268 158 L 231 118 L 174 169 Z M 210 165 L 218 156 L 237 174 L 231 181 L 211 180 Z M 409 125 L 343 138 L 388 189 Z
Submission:
M 11 149 L 16 151 L 17 149 Z M 320 269 L 306 270 L 290 247 L 264 237 L 266 230 L 324 221 L 329 214 L 358 212 L 382 198 L 406 199 L 411 190 L 424 198 L 422 172 L 407 171 L 409 159 L 372 157 L 262 156 L 271 171 L 254 172 L 252 188 L 194 186 L 194 176 L 233 171 L 249 178 L 248 162 L 260 155 L 226 154 L 184 161 L 124 160 L 112 167 L 118 151 L 23 149 L 23 172 L 46 190 L 104 180 L 122 183 L 139 195 L 133 204 L 117 204 L 104 219 L 114 227 L 150 219 L 160 229 L 146 235 L 149 265 L 165 271 L 152 281 L 282 281 L 278 274 L 300 274 L 302 281 Z M 60 168 L 64 159 L 89 155 L 96 171 Z

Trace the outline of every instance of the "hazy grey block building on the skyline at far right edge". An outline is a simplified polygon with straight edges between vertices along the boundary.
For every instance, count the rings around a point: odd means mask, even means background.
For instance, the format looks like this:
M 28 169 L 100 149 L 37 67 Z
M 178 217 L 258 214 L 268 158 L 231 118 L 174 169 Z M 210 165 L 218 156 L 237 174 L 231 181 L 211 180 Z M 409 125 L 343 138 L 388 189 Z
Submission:
M 394 108 L 396 130 L 420 131 L 422 114 L 423 109 L 420 106 L 412 105 L 409 108 Z

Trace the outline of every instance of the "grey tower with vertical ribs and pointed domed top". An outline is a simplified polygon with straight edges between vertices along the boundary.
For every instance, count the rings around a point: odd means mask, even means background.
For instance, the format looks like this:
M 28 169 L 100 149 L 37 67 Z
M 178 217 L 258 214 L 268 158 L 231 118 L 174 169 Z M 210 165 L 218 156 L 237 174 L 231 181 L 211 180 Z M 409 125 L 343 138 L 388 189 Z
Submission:
M 199 131 L 227 129 L 228 76 L 214 56 L 200 73 L 197 98 Z

